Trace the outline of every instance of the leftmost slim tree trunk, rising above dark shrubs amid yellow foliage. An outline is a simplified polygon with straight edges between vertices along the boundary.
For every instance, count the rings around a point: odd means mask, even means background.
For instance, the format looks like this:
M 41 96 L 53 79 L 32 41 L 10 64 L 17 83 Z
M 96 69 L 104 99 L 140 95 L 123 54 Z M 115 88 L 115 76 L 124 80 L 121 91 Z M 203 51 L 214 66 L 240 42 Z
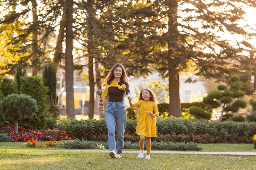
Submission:
M 32 6 L 33 6 L 33 14 L 32 14 L 32 18 L 33 18 L 33 25 L 37 24 L 38 22 L 38 16 L 36 13 L 36 0 L 32 0 Z M 32 67 L 32 76 L 37 76 L 38 73 L 38 54 L 37 54 L 37 50 L 38 50 L 38 31 L 37 29 L 33 29 L 32 31 L 32 61 L 33 61 L 33 67 Z

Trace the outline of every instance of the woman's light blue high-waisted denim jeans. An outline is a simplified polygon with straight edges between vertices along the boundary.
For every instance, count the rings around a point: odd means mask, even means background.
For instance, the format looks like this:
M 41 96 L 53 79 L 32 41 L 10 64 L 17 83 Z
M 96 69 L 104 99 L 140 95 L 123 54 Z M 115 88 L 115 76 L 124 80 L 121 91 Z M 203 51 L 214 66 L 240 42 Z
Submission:
M 105 110 L 105 119 L 108 128 L 109 150 L 116 150 L 121 154 L 124 149 L 124 132 L 126 128 L 126 108 L 124 102 L 108 102 Z M 117 130 L 117 144 L 116 144 Z

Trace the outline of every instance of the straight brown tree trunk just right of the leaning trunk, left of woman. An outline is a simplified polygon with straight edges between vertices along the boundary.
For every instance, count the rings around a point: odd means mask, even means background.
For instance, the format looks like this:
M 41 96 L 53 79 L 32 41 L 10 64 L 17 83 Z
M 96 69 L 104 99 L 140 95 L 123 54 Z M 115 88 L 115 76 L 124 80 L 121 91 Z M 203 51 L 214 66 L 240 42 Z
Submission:
M 70 118 L 75 117 L 75 107 L 74 107 L 74 78 L 73 78 L 73 30 L 72 30 L 72 9 L 73 0 L 66 1 L 67 10 L 67 23 L 66 23 L 66 52 L 65 52 L 65 81 L 66 81 L 66 103 L 67 116 Z

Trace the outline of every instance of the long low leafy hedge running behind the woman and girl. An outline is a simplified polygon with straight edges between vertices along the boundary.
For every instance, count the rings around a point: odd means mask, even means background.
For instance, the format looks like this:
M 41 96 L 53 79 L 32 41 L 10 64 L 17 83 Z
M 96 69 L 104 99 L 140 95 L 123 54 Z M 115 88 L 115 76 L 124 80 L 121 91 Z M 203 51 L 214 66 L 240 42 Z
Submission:
M 126 140 L 139 141 L 135 134 L 137 120 L 127 119 Z M 59 128 L 69 137 L 89 141 L 106 141 L 108 130 L 105 119 L 61 121 Z M 255 122 L 204 121 L 182 118 L 158 118 L 156 141 L 192 141 L 197 143 L 252 143 L 256 134 Z

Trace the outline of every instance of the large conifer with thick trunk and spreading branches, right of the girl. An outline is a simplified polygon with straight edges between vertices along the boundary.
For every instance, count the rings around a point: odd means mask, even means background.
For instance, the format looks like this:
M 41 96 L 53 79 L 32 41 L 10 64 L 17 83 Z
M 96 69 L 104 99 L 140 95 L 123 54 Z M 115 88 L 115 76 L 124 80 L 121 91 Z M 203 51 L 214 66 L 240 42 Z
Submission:
M 181 116 L 179 74 L 189 66 L 196 75 L 220 81 L 256 68 L 256 51 L 249 43 L 255 29 L 239 25 L 246 8 L 256 7 L 254 0 L 132 1 L 126 6 L 126 38 L 119 48 L 134 61 L 134 72 L 138 66 L 152 67 L 168 78 L 169 116 Z

